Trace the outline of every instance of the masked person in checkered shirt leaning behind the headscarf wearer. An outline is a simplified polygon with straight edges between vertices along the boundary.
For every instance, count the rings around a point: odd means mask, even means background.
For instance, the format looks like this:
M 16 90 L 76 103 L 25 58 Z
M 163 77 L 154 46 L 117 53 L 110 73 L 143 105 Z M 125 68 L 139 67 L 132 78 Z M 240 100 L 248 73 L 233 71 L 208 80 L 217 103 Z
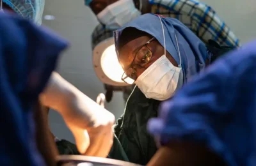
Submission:
M 230 27 L 217 15 L 211 6 L 194 0 L 84 0 L 97 15 L 97 29 L 116 30 L 141 14 L 155 13 L 180 20 L 193 33 L 209 44 L 209 40 L 228 46 L 239 47 L 240 42 Z M 125 6 L 125 7 L 124 7 Z M 128 7 L 127 7 L 128 6 Z M 117 10 L 116 10 L 117 9 Z M 112 34 L 111 34 L 112 35 Z M 109 36 L 111 37 L 111 36 Z M 93 38 L 93 36 L 92 36 Z M 97 41 L 94 41 L 97 42 Z M 93 43 L 92 43 L 93 44 Z M 123 91 L 127 101 L 134 86 Z

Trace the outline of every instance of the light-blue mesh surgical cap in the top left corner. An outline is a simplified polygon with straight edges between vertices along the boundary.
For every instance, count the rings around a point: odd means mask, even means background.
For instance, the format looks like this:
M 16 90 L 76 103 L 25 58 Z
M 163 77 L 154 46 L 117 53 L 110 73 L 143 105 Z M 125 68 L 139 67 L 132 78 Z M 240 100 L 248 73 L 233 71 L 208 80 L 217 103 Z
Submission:
M 3 0 L 3 3 L 10 6 L 21 17 L 31 19 L 36 24 L 42 24 L 45 0 Z

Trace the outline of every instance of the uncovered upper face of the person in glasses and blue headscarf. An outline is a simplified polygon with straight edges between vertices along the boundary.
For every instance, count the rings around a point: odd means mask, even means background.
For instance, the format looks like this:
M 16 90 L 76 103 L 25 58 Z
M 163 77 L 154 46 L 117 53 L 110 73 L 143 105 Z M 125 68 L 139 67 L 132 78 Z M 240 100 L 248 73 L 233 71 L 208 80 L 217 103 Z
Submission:
M 118 58 L 125 74 L 136 80 L 141 73 L 163 54 L 164 47 L 155 38 L 141 36 L 125 44 L 119 50 Z M 178 66 L 171 54 L 166 52 L 166 57 L 174 66 Z

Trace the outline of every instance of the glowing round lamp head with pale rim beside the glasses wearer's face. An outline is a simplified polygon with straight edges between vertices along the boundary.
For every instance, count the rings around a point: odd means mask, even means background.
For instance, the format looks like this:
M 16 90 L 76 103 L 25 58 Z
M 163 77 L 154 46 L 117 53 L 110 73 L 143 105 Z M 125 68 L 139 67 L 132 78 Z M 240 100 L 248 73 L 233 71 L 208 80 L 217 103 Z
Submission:
M 131 86 L 122 80 L 124 70 L 116 56 L 113 31 L 100 24 L 93 31 L 92 40 L 93 66 L 100 81 L 111 86 Z

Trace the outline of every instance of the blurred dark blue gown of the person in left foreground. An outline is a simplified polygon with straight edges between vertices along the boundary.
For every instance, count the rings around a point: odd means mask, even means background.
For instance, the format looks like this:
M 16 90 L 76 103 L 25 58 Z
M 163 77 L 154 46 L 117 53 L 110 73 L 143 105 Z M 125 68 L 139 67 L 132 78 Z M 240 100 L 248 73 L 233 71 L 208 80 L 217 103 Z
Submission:
M 0 29 L 0 165 L 44 165 L 33 106 L 67 42 L 6 13 L 0 13 Z

